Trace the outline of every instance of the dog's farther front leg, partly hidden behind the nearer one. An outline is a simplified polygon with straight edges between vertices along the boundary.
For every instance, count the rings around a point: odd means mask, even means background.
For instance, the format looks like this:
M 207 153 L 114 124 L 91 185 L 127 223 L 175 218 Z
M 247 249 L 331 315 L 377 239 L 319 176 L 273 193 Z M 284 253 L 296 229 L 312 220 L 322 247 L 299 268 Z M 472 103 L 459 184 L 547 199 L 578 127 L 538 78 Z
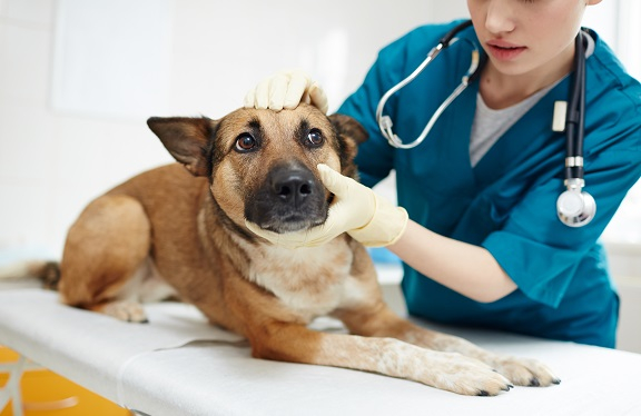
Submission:
M 424 348 L 476 358 L 519 386 L 550 386 L 560 383 L 548 366 L 535 359 L 497 355 L 466 339 L 422 328 L 398 317 L 382 301 L 342 310 L 337 316 L 354 334 L 394 337 Z

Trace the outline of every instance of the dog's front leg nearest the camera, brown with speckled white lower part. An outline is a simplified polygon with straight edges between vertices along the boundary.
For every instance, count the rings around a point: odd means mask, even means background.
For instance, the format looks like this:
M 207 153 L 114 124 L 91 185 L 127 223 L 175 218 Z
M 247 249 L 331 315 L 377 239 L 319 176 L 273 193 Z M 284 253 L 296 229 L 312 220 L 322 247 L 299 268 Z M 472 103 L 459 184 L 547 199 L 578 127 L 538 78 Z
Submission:
M 277 321 L 262 325 L 249 338 L 257 358 L 378 373 L 462 395 L 494 396 L 511 387 L 505 377 L 476 359 L 395 338 L 325 334 Z

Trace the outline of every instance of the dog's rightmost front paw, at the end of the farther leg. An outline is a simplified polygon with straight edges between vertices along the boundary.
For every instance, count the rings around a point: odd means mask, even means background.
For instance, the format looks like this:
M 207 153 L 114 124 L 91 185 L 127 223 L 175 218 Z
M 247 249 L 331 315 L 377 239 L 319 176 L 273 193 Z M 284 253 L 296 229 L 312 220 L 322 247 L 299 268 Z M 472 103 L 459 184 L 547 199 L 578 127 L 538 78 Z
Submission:
M 546 387 L 561 383 L 546 365 L 535 359 L 501 357 L 494 368 L 516 386 Z

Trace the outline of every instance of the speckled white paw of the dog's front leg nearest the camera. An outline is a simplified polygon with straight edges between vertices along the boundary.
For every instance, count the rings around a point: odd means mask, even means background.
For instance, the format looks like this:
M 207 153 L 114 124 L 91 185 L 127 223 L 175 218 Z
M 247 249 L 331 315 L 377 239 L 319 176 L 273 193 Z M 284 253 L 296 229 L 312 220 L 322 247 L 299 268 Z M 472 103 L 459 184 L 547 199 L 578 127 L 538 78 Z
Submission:
M 514 387 L 491 366 L 456 353 L 445 353 L 437 366 L 427 369 L 433 387 L 466 396 L 496 396 Z

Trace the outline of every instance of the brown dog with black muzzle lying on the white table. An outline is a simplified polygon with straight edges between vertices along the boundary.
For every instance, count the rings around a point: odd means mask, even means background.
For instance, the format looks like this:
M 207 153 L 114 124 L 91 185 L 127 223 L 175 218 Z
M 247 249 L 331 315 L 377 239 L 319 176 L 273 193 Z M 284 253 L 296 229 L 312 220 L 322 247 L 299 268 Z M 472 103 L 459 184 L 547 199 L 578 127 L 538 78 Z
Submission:
M 145 321 L 139 300 L 175 295 L 245 336 L 254 357 L 465 395 L 559 383 L 534 360 L 497 356 L 394 315 L 367 251 L 346 234 L 287 249 L 245 227 L 245 219 L 276 232 L 323 224 L 332 196 L 316 165 L 356 175 L 353 157 L 366 133 L 353 119 L 300 105 L 148 125 L 179 164 L 128 180 L 80 215 L 60 265 L 66 304 Z M 162 280 L 169 285 L 156 285 Z M 320 315 L 341 319 L 352 335 L 308 329 Z

